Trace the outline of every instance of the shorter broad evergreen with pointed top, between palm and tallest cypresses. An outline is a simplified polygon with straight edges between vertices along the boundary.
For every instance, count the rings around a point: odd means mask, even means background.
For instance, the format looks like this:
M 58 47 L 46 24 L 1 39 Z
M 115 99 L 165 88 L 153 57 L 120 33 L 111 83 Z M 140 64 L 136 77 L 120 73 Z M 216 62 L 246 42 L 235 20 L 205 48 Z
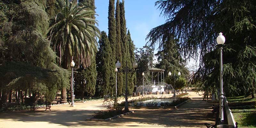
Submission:
M 97 84 L 96 84 L 96 94 L 99 96 L 104 96 L 112 92 L 112 88 L 109 85 L 109 77 L 111 71 L 109 68 L 111 59 L 111 46 L 108 41 L 108 36 L 106 32 L 101 32 L 101 39 L 99 40 L 99 52 L 96 56 L 97 64 Z

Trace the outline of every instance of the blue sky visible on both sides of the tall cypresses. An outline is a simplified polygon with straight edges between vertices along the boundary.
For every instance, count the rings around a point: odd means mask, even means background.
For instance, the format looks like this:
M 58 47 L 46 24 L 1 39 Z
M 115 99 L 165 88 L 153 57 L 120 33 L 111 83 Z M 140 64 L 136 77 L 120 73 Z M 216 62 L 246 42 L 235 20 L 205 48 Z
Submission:
M 122 1 L 122 0 L 120 0 Z M 101 31 L 108 33 L 108 0 L 95 0 L 96 20 Z M 146 44 L 145 38 L 152 28 L 164 24 L 165 19 L 155 7 L 156 0 L 125 0 L 125 19 L 127 30 L 130 30 L 135 47 Z M 116 5 L 116 3 L 115 3 Z

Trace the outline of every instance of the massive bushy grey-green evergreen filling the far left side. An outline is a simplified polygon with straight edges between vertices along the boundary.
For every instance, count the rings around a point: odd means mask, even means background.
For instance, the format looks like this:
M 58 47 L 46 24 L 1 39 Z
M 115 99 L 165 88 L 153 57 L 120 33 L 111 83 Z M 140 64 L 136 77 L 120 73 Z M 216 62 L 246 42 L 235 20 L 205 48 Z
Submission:
M 69 85 L 70 74 L 56 65 L 57 56 L 45 39 L 49 26 L 45 2 L 0 2 L 0 107 L 7 105 L 11 89 L 29 90 L 31 100 L 44 95 L 51 102 L 57 89 Z

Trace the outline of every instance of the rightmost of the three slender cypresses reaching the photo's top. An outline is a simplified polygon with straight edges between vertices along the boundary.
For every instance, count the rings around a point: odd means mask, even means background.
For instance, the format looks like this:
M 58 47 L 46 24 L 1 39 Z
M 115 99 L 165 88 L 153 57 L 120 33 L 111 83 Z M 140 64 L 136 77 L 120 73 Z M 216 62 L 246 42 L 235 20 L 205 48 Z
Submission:
M 121 51 L 122 51 L 122 65 L 123 67 L 129 67 L 131 64 L 127 61 L 127 54 L 128 54 L 128 45 L 127 45 L 127 35 L 126 35 L 126 20 L 125 20 L 125 11 L 124 11 L 124 0 L 122 3 L 119 3 L 120 6 L 120 34 L 121 34 Z M 123 76 L 125 81 L 125 75 Z M 125 92 L 125 82 L 123 84 L 123 92 Z

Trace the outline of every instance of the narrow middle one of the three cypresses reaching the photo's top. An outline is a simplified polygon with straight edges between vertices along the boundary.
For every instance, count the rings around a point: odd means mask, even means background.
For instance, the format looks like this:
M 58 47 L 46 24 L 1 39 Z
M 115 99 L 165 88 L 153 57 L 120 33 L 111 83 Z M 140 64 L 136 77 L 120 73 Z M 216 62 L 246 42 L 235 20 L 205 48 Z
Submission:
M 120 32 L 120 6 L 119 0 L 116 1 L 116 61 L 119 60 L 120 63 L 122 61 L 122 51 L 121 51 L 121 32 Z M 121 68 L 122 69 L 122 66 Z M 123 74 L 119 73 L 117 75 L 117 95 L 122 95 L 123 92 Z

